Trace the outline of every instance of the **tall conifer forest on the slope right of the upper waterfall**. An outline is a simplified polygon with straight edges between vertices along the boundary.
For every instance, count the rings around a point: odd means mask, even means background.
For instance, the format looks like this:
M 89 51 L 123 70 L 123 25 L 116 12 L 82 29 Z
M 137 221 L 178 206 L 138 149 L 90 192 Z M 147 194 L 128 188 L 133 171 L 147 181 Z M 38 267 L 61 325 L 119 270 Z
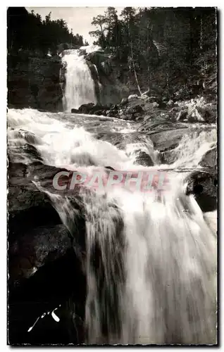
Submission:
M 183 89 L 216 93 L 216 8 L 125 7 L 118 17 L 108 7 L 92 25 L 94 44 L 127 64 L 139 92 L 138 77 L 144 73 L 150 89 L 157 71 L 163 89 L 181 81 Z

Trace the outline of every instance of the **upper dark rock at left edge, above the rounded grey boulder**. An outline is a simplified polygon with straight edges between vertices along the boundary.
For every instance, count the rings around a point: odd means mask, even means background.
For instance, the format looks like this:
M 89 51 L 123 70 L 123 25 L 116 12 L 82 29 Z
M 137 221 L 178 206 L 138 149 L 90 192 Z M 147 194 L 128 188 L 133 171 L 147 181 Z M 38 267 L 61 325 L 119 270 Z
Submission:
M 35 170 L 32 170 L 35 169 Z M 49 196 L 39 191 L 34 180 L 35 174 L 44 179 L 44 165 L 34 163 L 24 165 L 23 163 L 8 164 L 8 236 L 18 237 L 25 230 L 42 225 L 58 225 L 61 220 L 58 213 L 51 205 Z M 52 180 L 57 170 L 49 167 L 49 175 L 45 174 L 46 187 L 52 187 Z M 60 170 L 60 169 L 59 169 Z M 43 172 L 43 173 L 42 173 Z M 50 176 L 51 174 L 51 176 Z M 44 185 L 44 182 L 43 182 Z

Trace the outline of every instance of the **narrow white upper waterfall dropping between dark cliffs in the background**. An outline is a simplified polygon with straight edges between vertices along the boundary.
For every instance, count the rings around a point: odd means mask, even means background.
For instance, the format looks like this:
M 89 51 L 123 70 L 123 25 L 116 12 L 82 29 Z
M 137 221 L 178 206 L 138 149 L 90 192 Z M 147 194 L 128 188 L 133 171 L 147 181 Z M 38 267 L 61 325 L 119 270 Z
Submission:
M 70 112 L 85 103 L 97 103 L 94 80 L 79 49 L 63 51 L 66 65 L 66 87 L 63 92 L 63 110 Z

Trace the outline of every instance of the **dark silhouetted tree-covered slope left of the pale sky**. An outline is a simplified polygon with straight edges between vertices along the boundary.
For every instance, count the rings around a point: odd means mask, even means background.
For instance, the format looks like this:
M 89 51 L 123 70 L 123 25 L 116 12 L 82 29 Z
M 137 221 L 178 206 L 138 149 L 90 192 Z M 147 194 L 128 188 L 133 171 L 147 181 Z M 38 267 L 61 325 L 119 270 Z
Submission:
M 51 13 L 42 20 L 38 13 L 28 13 L 24 7 L 9 7 L 7 10 L 8 54 L 18 54 L 28 50 L 30 54 L 56 54 L 58 46 L 68 49 L 71 46 L 87 44 L 80 34 L 73 34 L 63 19 L 52 20 Z M 66 46 L 67 44 L 67 46 Z

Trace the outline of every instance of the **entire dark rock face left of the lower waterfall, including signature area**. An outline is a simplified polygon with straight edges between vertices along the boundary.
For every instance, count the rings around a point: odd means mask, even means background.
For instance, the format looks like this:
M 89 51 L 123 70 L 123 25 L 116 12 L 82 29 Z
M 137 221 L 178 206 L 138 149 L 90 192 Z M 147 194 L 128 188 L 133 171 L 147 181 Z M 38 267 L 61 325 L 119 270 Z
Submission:
M 84 342 L 86 282 L 82 254 L 73 241 L 77 233 L 68 232 L 49 197 L 32 183 L 37 176 L 52 191 L 58 170 L 41 162 L 8 165 L 10 344 Z M 79 230 L 85 237 L 81 223 Z M 60 322 L 51 316 L 55 308 Z

